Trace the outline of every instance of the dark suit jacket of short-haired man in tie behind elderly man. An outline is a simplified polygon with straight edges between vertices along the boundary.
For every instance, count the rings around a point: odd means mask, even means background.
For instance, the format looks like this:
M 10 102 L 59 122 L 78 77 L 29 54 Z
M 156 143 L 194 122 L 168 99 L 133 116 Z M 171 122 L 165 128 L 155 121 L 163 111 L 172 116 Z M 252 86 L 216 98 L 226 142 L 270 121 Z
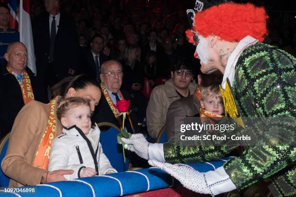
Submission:
M 80 63 L 80 69 L 79 72 L 83 74 L 87 74 L 92 78 L 96 78 L 98 75 L 97 70 L 96 70 L 96 65 L 94 58 L 92 56 L 92 52 L 90 49 L 86 50 L 85 53 L 83 54 L 83 57 L 81 58 L 81 63 Z M 104 53 L 100 53 L 99 56 L 99 64 L 102 67 L 102 64 L 105 61 L 110 60 L 109 56 L 106 56 Z

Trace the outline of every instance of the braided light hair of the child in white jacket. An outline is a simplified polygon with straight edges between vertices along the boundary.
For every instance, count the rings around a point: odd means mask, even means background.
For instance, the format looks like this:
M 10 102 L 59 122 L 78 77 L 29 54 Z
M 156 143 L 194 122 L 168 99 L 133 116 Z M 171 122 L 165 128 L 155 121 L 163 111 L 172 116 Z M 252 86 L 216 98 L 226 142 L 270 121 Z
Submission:
M 90 108 L 89 99 L 84 99 L 82 97 L 69 97 L 60 99 L 57 102 L 57 118 L 60 120 L 71 108 L 75 108 L 81 105 L 86 105 Z

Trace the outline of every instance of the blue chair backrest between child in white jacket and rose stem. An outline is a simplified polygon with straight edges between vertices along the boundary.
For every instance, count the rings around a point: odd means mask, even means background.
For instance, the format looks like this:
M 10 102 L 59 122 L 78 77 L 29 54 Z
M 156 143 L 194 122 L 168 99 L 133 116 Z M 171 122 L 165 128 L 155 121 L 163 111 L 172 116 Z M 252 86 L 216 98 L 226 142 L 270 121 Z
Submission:
M 99 127 L 110 127 L 108 130 L 101 130 L 100 142 L 104 154 L 109 159 L 113 168 L 118 172 L 123 172 L 128 170 L 129 159 L 126 158 L 125 163 L 123 162 L 122 145 L 117 142 L 117 135 L 120 129 L 108 122 L 102 122 L 98 124 Z

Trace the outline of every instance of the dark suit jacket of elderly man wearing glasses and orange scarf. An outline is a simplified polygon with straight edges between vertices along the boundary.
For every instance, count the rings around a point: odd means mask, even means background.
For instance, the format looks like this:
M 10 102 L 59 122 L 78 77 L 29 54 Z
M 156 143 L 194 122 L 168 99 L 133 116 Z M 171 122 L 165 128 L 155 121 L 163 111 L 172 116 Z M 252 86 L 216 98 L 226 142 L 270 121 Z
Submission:
M 124 90 L 121 90 L 121 93 L 122 93 L 124 99 L 131 100 L 130 110 L 133 110 L 134 106 L 133 106 L 133 101 L 132 101 L 132 98 L 130 97 L 130 95 Z M 135 130 L 135 133 L 140 133 L 141 128 L 138 126 L 135 113 L 132 111 L 130 113 L 130 116 L 132 119 L 133 128 Z M 95 122 L 97 124 L 99 124 L 101 122 L 109 122 L 109 123 L 113 123 L 114 125 L 116 125 L 120 128 L 119 123 L 118 123 L 116 117 L 114 116 L 114 114 L 113 114 L 110 106 L 108 105 L 107 100 L 103 94 L 102 94 L 102 98 L 100 99 L 99 105 L 97 106 L 96 110 L 94 111 L 92 118 L 93 118 L 92 122 Z M 124 125 L 127 128 L 129 133 L 133 133 L 132 127 L 130 125 L 130 121 L 128 120 L 127 117 L 126 117 L 126 120 L 124 121 Z

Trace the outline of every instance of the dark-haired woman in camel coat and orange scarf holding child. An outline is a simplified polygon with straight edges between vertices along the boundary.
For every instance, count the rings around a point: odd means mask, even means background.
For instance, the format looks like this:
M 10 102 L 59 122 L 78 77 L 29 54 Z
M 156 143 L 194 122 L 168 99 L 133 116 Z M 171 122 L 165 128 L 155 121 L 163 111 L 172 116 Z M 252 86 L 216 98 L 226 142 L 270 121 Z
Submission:
M 63 181 L 63 174 L 73 170 L 47 171 L 51 143 L 61 134 L 62 126 L 56 118 L 56 102 L 61 97 L 89 99 L 94 111 L 101 99 L 99 84 L 86 75 L 66 77 L 51 88 L 54 99 L 48 104 L 31 101 L 15 118 L 8 149 L 1 168 L 11 178 L 10 187 Z

